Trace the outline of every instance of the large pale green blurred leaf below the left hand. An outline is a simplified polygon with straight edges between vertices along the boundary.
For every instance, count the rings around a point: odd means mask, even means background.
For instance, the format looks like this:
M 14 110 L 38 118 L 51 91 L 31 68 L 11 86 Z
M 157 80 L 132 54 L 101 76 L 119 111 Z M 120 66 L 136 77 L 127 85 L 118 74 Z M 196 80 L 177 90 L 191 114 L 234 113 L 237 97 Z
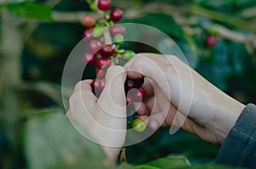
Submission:
M 28 119 L 25 152 L 29 168 L 104 168 L 102 149 L 81 136 L 60 111 Z

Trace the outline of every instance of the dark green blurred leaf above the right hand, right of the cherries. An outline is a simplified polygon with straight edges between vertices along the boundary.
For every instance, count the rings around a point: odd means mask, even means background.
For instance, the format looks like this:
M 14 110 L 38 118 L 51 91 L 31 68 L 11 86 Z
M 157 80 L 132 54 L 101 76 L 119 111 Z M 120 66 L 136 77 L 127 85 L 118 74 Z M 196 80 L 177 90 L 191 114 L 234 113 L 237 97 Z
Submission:
M 180 25 L 168 14 L 146 14 L 137 22 L 154 26 L 173 37 L 183 37 L 183 30 Z

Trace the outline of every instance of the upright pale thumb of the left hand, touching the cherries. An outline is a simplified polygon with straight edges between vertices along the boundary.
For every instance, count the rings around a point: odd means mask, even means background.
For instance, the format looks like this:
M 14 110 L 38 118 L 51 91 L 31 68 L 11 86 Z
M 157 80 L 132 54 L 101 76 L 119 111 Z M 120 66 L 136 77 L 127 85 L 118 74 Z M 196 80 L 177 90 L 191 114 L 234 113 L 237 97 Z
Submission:
M 126 71 L 121 66 L 111 66 L 106 73 L 106 85 L 102 91 L 98 104 L 102 110 L 111 114 L 120 115 L 119 111 L 125 112 L 125 89 Z

